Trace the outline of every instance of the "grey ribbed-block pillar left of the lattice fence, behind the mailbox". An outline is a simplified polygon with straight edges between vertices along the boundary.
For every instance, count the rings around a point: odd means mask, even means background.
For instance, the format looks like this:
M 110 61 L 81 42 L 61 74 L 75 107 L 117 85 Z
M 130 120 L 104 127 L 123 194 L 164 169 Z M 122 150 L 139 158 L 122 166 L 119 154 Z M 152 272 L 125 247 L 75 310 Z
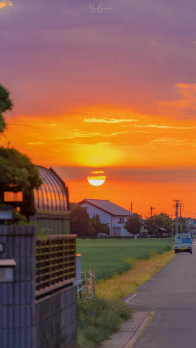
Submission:
M 35 226 L 0 226 L 0 259 L 14 259 L 13 282 L 0 282 L 0 348 L 34 348 Z

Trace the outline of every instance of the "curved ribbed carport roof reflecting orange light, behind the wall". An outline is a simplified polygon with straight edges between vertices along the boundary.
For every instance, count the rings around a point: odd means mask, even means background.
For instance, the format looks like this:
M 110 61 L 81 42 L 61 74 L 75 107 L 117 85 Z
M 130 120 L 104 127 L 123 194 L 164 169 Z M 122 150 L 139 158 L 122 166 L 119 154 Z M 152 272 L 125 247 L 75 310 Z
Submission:
M 36 210 L 66 211 L 68 210 L 68 189 L 53 171 L 37 165 L 43 184 L 33 190 L 34 207 Z

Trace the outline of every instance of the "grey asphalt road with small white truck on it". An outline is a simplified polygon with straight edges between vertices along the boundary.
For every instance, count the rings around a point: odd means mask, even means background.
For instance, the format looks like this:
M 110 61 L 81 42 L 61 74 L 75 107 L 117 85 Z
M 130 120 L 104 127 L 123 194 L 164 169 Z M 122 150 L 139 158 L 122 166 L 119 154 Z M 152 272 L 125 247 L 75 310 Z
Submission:
M 134 348 L 196 347 L 196 240 L 192 255 L 177 254 L 137 293 L 131 308 L 156 314 Z

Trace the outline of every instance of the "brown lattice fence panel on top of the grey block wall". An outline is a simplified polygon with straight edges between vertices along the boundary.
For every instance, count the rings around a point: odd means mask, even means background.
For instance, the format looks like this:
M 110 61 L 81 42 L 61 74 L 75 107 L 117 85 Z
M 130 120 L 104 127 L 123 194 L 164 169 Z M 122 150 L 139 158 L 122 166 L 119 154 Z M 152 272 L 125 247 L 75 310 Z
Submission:
M 36 241 L 36 297 L 73 282 L 76 235 L 50 235 Z

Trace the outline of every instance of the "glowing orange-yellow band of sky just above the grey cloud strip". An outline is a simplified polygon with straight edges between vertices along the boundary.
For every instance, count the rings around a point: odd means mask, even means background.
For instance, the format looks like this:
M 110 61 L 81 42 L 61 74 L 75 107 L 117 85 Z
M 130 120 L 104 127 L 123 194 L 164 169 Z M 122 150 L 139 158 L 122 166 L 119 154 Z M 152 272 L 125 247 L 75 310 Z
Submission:
M 1 142 L 25 152 L 33 162 L 48 165 L 182 167 L 195 166 L 196 85 L 178 85 L 173 101 L 157 101 L 157 112 L 94 106 L 63 115 L 7 113 Z M 154 105 L 153 105 L 154 107 Z

